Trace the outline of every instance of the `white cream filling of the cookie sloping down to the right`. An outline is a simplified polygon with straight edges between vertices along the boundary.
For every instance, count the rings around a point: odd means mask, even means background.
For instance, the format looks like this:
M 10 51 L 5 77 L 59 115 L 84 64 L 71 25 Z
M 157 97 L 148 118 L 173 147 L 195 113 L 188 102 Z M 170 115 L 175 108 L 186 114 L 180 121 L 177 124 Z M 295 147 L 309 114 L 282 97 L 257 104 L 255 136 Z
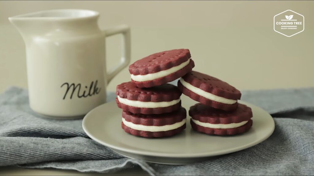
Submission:
M 191 85 L 190 83 L 186 82 L 185 80 L 183 80 L 182 78 L 180 79 L 181 84 L 187 88 L 188 90 L 198 94 L 199 96 L 203 96 L 209 100 L 212 101 L 216 101 L 219 103 L 224 103 L 224 104 L 228 104 L 228 105 L 232 105 L 235 104 L 237 101 L 236 100 L 230 100 L 224 97 L 220 97 L 220 96 L 216 96 L 214 94 L 211 94 L 209 92 L 203 91 L 202 89 L 198 88 L 198 87 L 194 87 L 193 85 Z

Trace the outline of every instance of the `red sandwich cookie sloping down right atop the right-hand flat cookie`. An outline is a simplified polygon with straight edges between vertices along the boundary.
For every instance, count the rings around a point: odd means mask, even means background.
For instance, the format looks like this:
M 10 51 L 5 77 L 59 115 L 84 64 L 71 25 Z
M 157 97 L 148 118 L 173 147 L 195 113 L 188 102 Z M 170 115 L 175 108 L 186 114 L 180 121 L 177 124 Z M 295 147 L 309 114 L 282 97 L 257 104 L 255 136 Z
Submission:
M 191 71 L 178 81 L 180 91 L 204 105 L 225 111 L 235 110 L 241 92 L 215 77 Z

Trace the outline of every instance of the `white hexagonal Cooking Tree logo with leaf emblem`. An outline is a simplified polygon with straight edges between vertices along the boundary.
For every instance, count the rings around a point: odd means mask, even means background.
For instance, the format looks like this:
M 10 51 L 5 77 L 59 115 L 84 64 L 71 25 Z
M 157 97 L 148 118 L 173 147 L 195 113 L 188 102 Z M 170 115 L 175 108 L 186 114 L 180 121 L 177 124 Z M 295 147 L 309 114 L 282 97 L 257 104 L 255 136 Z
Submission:
M 286 10 L 274 16 L 274 31 L 291 37 L 304 31 L 304 16 L 292 10 Z

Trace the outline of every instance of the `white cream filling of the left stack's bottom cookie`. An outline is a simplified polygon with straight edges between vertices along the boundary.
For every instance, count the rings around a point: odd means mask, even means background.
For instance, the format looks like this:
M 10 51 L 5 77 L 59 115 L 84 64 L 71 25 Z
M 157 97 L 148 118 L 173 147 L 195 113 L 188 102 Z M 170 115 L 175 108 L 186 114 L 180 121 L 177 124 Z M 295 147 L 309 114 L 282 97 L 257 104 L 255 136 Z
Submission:
M 185 118 L 181 122 L 176 122 L 171 125 L 146 126 L 146 125 L 134 124 L 132 122 L 127 122 L 124 118 L 122 118 L 122 122 L 124 123 L 125 126 L 130 127 L 134 130 L 147 131 L 147 132 L 164 132 L 164 131 L 174 130 L 176 128 L 183 126 L 186 121 L 187 119 Z

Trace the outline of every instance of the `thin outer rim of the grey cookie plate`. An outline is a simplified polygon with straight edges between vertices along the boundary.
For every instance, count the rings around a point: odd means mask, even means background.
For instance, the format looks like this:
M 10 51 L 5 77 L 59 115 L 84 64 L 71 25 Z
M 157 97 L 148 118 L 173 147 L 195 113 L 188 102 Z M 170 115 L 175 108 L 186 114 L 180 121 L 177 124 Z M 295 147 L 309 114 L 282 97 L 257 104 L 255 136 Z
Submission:
M 84 132 L 91 138 L 93 139 L 94 141 L 100 143 L 101 145 L 104 145 L 104 146 L 107 146 L 109 148 L 113 148 L 115 150 L 119 150 L 119 151 L 123 151 L 123 152 L 127 152 L 127 153 L 133 153 L 133 154 L 138 154 L 138 155 L 146 155 L 146 156 L 156 156 L 156 157 L 172 157 L 172 158 L 203 158 L 203 157 L 210 157 L 210 156 L 218 156 L 218 155 L 223 155 L 223 154 L 227 154 L 227 153 L 233 153 L 233 152 L 237 152 L 237 151 L 240 151 L 240 150 L 243 150 L 243 149 L 246 149 L 246 148 L 250 148 L 252 146 L 255 146 L 263 141 L 265 141 L 268 137 L 270 137 L 273 132 L 274 132 L 274 129 L 275 129 L 275 124 L 274 124 L 274 120 L 273 118 L 271 117 L 271 115 L 263 110 L 262 108 L 258 107 L 258 106 L 255 106 L 251 103 L 247 103 L 245 101 L 239 101 L 239 103 L 244 103 L 246 105 L 249 105 L 250 107 L 251 106 L 254 106 L 254 108 L 258 108 L 262 111 L 264 111 L 265 113 L 267 113 L 271 118 L 272 118 L 272 124 L 273 124 L 273 128 L 271 130 L 271 132 L 269 132 L 268 135 L 266 135 L 265 137 L 263 138 L 260 138 L 260 140 L 257 140 L 257 141 L 254 141 L 254 142 L 251 142 L 251 143 L 247 143 L 243 146 L 239 146 L 239 147 L 236 147 L 236 148 L 232 148 L 232 149 L 226 149 L 226 150 L 223 150 L 223 151 L 219 151 L 219 152 L 203 152 L 203 153 L 156 153 L 156 152 L 148 152 L 148 151 L 138 151 L 138 150 L 134 150 L 134 149 L 127 149 L 127 148 L 124 148 L 124 147 L 119 147 L 119 146 L 115 146 L 115 145 L 111 145 L 109 143 L 106 143 L 104 141 L 101 141 L 101 140 L 98 140 L 97 138 L 93 137 L 93 135 L 89 132 L 89 130 L 85 127 L 85 123 L 86 123 L 86 119 L 89 118 L 89 115 L 93 112 L 93 111 L 96 111 L 98 108 L 101 108 L 102 106 L 107 106 L 108 104 L 110 103 L 115 103 L 115 101 L 110 101 L 108 103 L 105 103 L 105 104 L 102 104 L 100 106 L 97 106 L 95 107 L 93 110 L 89 111 L 85 116 L 84 116 L 84 119 L 82 121 L 82 127 L 83 127 L 83 130 Z

